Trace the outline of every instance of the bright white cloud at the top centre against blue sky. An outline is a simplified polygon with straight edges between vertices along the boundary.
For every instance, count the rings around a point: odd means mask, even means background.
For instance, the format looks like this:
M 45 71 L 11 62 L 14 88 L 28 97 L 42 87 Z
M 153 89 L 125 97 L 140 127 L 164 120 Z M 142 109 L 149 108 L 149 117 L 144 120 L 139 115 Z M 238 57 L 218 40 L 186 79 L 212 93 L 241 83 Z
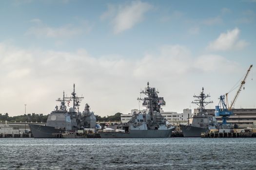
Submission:
M 132 1 L 119 6 L 108 5 L 108 10 L 100 18 L 111 17 L 114 33 L 118 34 L 141 22 L 145 13 L 150 9 L 152 9 L 152 5 L 141 1 Z

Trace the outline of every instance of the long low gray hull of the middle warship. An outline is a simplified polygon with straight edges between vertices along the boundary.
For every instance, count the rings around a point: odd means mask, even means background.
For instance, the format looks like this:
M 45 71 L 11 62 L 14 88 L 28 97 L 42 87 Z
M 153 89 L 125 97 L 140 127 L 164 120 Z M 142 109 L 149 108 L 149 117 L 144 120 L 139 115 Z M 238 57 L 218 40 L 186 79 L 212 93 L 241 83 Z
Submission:
M 129 132 L 98 132 L 101 138 L 159 138 L 171 137 L 172 131 L 168 130 L 130 130 Z

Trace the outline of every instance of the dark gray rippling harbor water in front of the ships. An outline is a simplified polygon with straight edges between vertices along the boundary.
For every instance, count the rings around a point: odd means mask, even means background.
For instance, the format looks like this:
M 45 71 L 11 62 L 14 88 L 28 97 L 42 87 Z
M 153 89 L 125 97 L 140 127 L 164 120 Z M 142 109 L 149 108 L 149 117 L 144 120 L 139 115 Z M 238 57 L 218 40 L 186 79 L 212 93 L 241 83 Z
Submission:
M 256 169 L 256 138 L 0 138 L 0 169 Z

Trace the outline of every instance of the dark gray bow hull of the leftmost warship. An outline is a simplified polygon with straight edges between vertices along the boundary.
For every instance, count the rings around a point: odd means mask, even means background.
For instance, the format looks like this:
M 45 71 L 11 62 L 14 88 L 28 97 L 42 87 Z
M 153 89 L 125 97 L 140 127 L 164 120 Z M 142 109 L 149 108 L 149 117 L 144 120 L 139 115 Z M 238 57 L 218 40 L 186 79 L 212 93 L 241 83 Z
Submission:
M 36 124 L 29 124 L 34 138 L 52 138 L 55 133 L 62 133 L 61 130 L 55 129 L 52 126 L 42 126 Z

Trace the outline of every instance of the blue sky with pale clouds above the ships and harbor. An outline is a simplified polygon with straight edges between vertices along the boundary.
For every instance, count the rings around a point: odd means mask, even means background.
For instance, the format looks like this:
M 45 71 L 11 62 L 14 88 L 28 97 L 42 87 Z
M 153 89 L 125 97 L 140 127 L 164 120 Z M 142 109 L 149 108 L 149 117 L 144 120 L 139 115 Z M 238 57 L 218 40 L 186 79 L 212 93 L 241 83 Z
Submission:
M 76 84 L 80 110 L 127 114 L 147 82 L 164 111 L 202 87 L 214 108 L 256 64 L 255 30 L 256 0 L 1 0 L 0 113 L 47 115 Z M 236 108 L 256 107 L 255 75 Z

